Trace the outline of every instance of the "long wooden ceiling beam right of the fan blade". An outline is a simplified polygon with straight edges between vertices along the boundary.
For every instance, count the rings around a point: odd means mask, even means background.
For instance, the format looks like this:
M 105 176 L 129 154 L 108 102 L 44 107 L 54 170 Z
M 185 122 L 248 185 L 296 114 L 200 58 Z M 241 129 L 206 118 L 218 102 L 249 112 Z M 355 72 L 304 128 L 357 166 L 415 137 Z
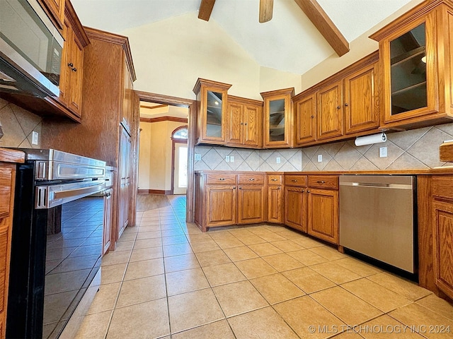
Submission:
M 316 0 L 294 0 L 296 4 L 304 11 L 311 23 L 319 30 L 328 44 L 338 54 L 338 57 L 349 52 L 348 40 L 343 37 L 340 30 L 333 23 L 327 13 L 319 6 Z

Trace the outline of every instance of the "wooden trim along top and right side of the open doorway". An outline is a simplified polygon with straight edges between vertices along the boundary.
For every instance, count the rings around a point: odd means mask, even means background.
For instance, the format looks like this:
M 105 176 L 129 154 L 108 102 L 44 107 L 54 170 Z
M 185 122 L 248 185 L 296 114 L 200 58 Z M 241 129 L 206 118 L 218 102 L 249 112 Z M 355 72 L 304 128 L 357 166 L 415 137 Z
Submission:
M 142 92 L 134 90 L 139 97 L 140 101 L 156 102 L 161 105 L 173 105 L 178 107 L 188 107 L 188 141 L 187 141 L 187 160 L 188 160 L 188 174 L 187 174 L 187 194 L 186 194 L 186 208 L 185 220 L 193 222 L 194 215 L 194 153 L 195 153 L 195 129 L 197 126 L 197 114 L 195 111 L 195 100 L 184 99 L 182 97 L 171 97 L 169 95 L 162 95 L 156 93 Z

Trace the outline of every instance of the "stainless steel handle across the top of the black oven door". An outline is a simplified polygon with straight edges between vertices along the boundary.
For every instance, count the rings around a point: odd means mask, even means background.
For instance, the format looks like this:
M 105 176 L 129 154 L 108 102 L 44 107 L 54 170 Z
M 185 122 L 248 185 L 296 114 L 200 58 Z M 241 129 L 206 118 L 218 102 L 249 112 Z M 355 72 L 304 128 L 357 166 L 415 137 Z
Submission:
M 49 185 L 36 187 L 36 209 L 47 209 L 69 203 L 85 196 L 98 193 L 105 189 L 105 182 L 93 182 L 77 186 L 77 184 Z

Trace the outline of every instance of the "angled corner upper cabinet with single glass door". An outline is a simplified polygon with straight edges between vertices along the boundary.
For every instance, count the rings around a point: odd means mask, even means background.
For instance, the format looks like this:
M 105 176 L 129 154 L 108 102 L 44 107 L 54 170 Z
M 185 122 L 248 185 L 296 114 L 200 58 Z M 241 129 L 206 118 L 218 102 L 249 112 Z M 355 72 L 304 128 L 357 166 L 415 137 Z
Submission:
M 260 93 L 263 108 L 263 148 L 287 148 L 293 142 L 292 101 L 294 88 Z

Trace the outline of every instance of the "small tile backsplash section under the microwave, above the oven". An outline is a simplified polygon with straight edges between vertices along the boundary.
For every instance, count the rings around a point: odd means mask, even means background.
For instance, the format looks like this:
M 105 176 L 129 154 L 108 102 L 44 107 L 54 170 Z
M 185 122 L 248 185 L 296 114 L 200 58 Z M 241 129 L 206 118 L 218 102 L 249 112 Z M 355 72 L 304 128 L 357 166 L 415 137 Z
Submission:
M 0 98 L 0 124 L 4 136 L 0 147 L 40 148 L 42 118 Z M 32 132 L 38 132 L 38 145 L 32 145 Z

